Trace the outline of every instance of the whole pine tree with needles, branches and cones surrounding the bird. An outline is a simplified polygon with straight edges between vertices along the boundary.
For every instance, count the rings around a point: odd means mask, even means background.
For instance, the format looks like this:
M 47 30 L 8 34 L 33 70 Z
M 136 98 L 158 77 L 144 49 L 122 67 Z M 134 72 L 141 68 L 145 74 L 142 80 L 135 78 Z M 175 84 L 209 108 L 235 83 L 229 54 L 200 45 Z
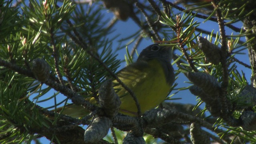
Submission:
M 255 143 L 255 7 L 254 0 L 0 1 L 0 142 Z M 128 19 L 139 30 L 120 36 L 115 26 Z M 219 30 L 202 28 L 209 21 Z M 168 96 L 142 117 L 115 108 L 104 115 L 108 107 L 90 98 L 98 99 L 104 87 L 114 95 L 110 79 L 122 62 L 119 50 L 133 47 L 129 64 L 150 39 L 173 47 L 171 96 L 186 90 L 198 103 Z M 250 65 L 237 58 L 244 50 Z M 238 67 L 250 69 L 251 79 Z M 189 87 L 177 86 L 181 75 Z M 81 118 L 54 112 L 69 103 L 90 112 Z

